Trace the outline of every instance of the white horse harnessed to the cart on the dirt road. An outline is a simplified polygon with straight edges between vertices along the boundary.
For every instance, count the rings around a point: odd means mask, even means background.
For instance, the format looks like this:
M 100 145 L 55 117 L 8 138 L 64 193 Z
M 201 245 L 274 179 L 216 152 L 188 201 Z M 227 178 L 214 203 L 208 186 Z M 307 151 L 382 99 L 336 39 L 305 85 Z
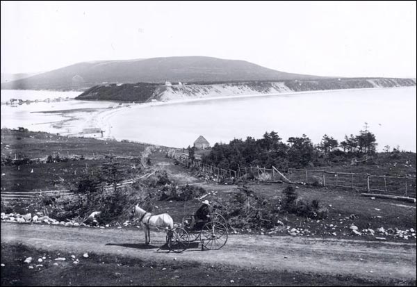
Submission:
M 144 211 L 136 204 L 132 210 L 132 217 L 139 218 L 140 227 L 145 231 L 145 244 L 151 243 L 150 229 L 155 230 L 158 228 L 174 228 L 174 220 L 167 213 L 161 213 L 158 215 L 152 215 L 151 213 Z

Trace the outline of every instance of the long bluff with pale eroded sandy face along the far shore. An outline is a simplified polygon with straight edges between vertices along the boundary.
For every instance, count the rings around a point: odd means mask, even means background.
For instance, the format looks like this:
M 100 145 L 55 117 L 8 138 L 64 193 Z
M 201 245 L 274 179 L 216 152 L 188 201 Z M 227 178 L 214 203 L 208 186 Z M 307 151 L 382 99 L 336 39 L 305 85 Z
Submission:
M 320 79 L 316 81 L 252 81 L 243 83 L 215 83 L 190 85 L 162 85 L 136 83 L 124 85 L 97 85 L 76 99 L 136 101 L 175 101 L 237 95 L 265 95 L 281 92 L 314 90 L 341 90 L 357 88 L 395 88 L 415 86 L 415 79 Z

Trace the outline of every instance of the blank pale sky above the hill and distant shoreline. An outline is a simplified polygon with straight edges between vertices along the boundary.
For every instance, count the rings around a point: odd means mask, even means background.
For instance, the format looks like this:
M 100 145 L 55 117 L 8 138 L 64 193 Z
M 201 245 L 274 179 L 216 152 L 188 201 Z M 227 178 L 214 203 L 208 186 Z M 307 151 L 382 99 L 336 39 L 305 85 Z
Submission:
M 1 72 L 212 56 L 320 76 L 416 77 L 416 1 L 1 1 Z

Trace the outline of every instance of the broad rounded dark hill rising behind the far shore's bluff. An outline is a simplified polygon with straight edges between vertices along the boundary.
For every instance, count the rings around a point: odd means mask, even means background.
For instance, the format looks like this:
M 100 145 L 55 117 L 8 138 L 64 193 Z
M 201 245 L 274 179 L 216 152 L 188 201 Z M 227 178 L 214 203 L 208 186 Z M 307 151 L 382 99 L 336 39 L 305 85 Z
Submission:
M 1 89 L 86 90 L 103 83 L 284 81 L 322 79 L 261 67 L 244 60 L 186 56 L 77 63 L 26 79 L 1 83 Z

